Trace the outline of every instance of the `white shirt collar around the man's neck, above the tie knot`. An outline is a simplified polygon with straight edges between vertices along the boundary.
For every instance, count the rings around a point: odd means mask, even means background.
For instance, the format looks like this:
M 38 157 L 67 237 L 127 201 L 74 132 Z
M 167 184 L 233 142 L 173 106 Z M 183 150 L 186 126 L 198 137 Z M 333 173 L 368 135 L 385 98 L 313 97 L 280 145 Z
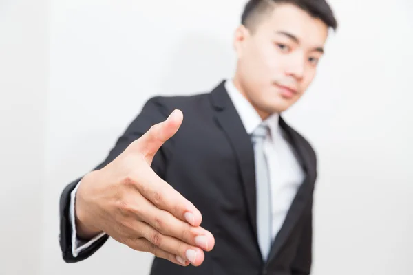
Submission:
M 251 103 L 248 102 L 248 100 L 241 94 L 237 87 L 235 87 L 232 80 L 225 81 L 225 89 L 228 92 L 238 115 L 240 115 L 246 133 L 253 133 L 255 128 L 257 128 L 257 126 L 263 122 L 260 118 L 260 115 L 258 115 L 257 111 L 255 111 Z M 279 131 L 278 122 L 278 113 L 273 113 L 268 118 L 266 118 L 266 120 L 264 120 L 264 124 L 266 124 L 270 128 L 270 133 L 272 136 L 275 136 Z

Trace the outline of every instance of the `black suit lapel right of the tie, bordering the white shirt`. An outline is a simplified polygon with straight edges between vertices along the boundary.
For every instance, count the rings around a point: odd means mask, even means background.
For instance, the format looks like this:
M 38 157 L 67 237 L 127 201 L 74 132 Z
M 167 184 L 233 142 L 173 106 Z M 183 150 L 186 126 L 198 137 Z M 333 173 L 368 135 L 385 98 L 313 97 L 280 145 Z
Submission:
M 315 164 L 312 163 L 313 160 L 310 153 L 308 152 L 308 148 L 306 148 L 306 142 L 301 136 L 299 136 L 297 132 L 291 129 L 290 126 L 288 126 L 282 118 L 279 119 L 279 125 L 288 135 L 291 144 L 295 148 L 306 176 L 299 190 L 297 191 L 297 195 L 295 196 L 293 203 L 290 206 L 290 210 L 286 215 L 286 219 L 282 225 L 282 228 L 279 230 L 277 236 L 275 237 L 273 247 L 271 248 L 271 252 L 268 256 L 268 261 L 271 261 L 271 259 L 277 256 L 277 253 L 282 248 L 282 245 L 284 245 L 284 243 L 288 239 L 290 232 L 293 230 L 295 224 L 301 216 L 301 213 L 304 211 L 308 199 L 310 199 L 315 181 Z

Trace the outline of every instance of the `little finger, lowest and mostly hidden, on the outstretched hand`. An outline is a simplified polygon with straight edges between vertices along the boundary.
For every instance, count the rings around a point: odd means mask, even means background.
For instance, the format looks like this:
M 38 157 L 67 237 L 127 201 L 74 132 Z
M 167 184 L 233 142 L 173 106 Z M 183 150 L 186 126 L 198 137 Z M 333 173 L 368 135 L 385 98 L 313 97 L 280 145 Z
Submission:
M 180 256 L 176 256 L 174 254 L 171 254 L 169 252 L 166 252 L 165 250 L 158 248 L 156 245 L 154 245 L 153 243 L 151 243 L 145 238 L 140 238 L 134 241 L 129 241 L 127 245 L 129 246 L 129 248 L 142 251 L 142 252 L 149 252 L 157 256 L 158 258 L 167 259 L 168 261 L 171 261 L 172 263 L 176 263 L 177 265 L 182 265 L 182 266 L 189 265 L 189 261 L 186 261 L 182 259 L 182 257 Z

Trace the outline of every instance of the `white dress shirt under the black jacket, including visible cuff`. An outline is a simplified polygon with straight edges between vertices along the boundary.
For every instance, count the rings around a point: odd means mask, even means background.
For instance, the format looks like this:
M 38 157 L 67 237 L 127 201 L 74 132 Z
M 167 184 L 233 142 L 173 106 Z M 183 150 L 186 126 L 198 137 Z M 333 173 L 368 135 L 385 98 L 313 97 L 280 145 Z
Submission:
M 253 106 L 237 90 L 233 81 L 225 82 L 226 91 L 228 91 L 237 113 L 240 115 L 244 128 L 248 134 L 262 123 L 260 115 Z M 278 124 L 279 115 L 274 113 L 268 117 L 264 123 L 270 128 L 270 137 L 264 140 L 264 153 L 268 159 L 270 168 L 271 182 L 271 208 L 272 208 L 272 236 L 275 239 L 279 229 L 284 223 L 286 214 L 293 202 L 298 188 L 304 180 L 304 171 L 301 169 L 299 161 L 295 156 L 295 151 Z M 70 223 L 72 224 L 72 254 L 74 257 L 105 236 L 105 233 L 98 234 L 88 242 L 82 242 L 76 237 L 76 225 L 74 216 L 74 200 L 76 199 L 76 188 L 72 191 L 70 201 Z

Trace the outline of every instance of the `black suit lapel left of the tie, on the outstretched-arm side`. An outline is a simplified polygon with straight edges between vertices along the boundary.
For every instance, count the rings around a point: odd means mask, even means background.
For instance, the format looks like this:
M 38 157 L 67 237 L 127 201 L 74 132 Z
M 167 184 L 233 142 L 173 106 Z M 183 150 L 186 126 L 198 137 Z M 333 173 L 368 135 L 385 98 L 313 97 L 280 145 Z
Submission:
M 229 143 L 233 147 L 240 168 L 242 186 L 248 208 L 248 217 L 254 236 L 256 229 L 256 199 L 255 199 L 255 167 L 254 151 L 251 139 L 246 133 L 244 124 L 238 115 L 231 98 L 226 92 L 224 82 L 220 83 L 211 92 L 212 105 L 215 109 L 215 120 L 224 131 Z

